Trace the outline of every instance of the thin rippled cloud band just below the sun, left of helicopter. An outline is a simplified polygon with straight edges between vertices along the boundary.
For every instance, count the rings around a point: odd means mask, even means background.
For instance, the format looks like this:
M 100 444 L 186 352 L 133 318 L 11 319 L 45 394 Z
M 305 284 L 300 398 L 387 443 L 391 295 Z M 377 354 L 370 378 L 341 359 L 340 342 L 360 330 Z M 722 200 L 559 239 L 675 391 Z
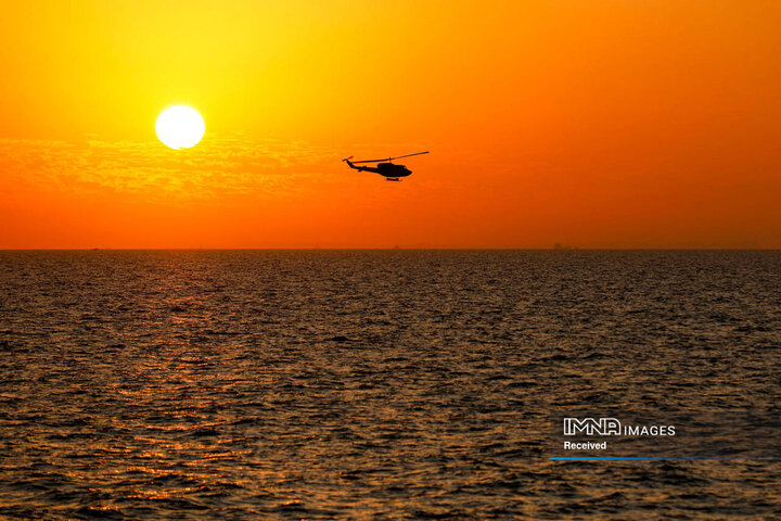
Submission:
M 320 181 L 337 155 L 302 141 L 252 140 L 241 135 L 209 138 L 178 152 L 158 142 L 2 139 L 0 175 L 14 181 L 12 186 L 199 200 L 293 192 L 304 178 Z

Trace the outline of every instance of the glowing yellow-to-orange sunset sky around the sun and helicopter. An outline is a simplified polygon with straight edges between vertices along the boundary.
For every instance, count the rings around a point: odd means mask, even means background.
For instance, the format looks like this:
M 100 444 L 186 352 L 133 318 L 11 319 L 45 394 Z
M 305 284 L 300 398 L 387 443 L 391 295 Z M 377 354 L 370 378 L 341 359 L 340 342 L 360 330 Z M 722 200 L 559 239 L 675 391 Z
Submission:
M 3 10 L 0 249 L 781 247 L 781 2 Z

